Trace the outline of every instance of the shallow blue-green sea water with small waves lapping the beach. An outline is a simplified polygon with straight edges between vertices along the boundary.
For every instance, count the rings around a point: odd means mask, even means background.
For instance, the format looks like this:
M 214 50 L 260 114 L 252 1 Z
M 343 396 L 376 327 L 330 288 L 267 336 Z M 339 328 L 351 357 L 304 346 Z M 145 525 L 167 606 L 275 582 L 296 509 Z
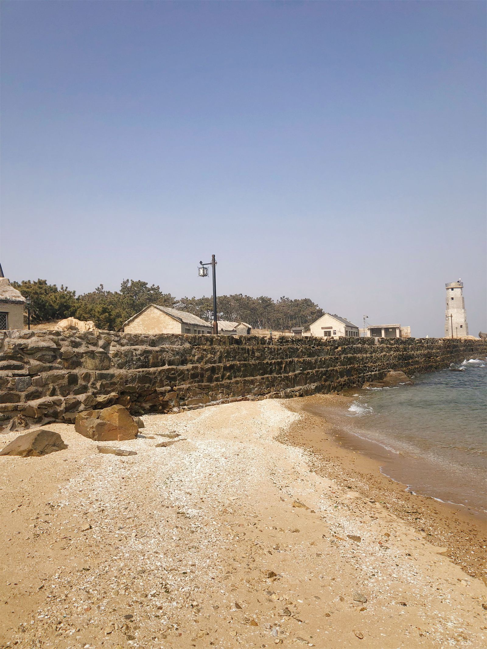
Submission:
M 382 472 L 410 491 L 485 512 L 487 361 L 456 367 L 464 371 L 414 376 L 413 386 L 359 390 L 341 420 L 349 445 L 362 452 L 374 447 Z

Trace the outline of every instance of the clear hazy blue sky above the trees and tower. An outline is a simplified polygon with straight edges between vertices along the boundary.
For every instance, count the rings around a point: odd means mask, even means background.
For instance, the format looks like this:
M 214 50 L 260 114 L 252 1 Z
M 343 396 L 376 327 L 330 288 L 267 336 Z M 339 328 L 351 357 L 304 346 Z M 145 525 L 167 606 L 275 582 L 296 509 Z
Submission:
M 1 3 L 1 262 L 486 330 L 482 2 Z

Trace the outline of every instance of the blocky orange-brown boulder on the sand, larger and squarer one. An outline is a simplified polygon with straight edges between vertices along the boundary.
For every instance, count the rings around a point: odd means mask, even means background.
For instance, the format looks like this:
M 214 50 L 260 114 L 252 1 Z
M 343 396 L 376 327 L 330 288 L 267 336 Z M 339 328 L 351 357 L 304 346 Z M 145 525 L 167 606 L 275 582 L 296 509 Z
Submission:
M 85 410 L 76 415 L 75 430 L 97 442 L 135 439 L 137 423 L 127 408 L 110 406 L 103 410 Z

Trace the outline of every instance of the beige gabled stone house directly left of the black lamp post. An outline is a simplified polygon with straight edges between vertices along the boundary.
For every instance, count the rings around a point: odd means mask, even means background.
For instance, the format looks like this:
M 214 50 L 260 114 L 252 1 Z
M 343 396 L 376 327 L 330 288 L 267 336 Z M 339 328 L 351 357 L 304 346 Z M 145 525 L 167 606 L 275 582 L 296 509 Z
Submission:
M 211 334 L 212 326 L 192 313 L 149 304 L 123 323 L 123 331 L 130 334 Z

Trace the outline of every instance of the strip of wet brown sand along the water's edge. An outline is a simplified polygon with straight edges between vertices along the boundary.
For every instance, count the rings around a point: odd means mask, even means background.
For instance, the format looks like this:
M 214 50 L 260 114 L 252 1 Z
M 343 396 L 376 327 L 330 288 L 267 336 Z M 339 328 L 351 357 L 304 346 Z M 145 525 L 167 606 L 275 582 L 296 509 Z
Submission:
M 286 400 L 288 410 L 298 413 L 279 441 L 300 447 L 311 455 L 312 470 L 336 484 L 353 489 L 371 501 L 380 502 L 393 515 L 406 522 L 441 554 L 462 567 L 470 576 L 487 585 L 487 520 L 477 512 L 408 491 L 409 485 L 381 471 L 381 459 L 368 442 L 340 429 L 337 410 L 345 410 L 354 401 L 346 395 L 311 395 Z M 329 419 L 313 412 L 313 406 L 333 410 Z M 345 416 L 345 415 L 344 415 Z M 331 421 L 332 420 L 332 421 Z M 355 449 L 355 450 L 354 450 Z

